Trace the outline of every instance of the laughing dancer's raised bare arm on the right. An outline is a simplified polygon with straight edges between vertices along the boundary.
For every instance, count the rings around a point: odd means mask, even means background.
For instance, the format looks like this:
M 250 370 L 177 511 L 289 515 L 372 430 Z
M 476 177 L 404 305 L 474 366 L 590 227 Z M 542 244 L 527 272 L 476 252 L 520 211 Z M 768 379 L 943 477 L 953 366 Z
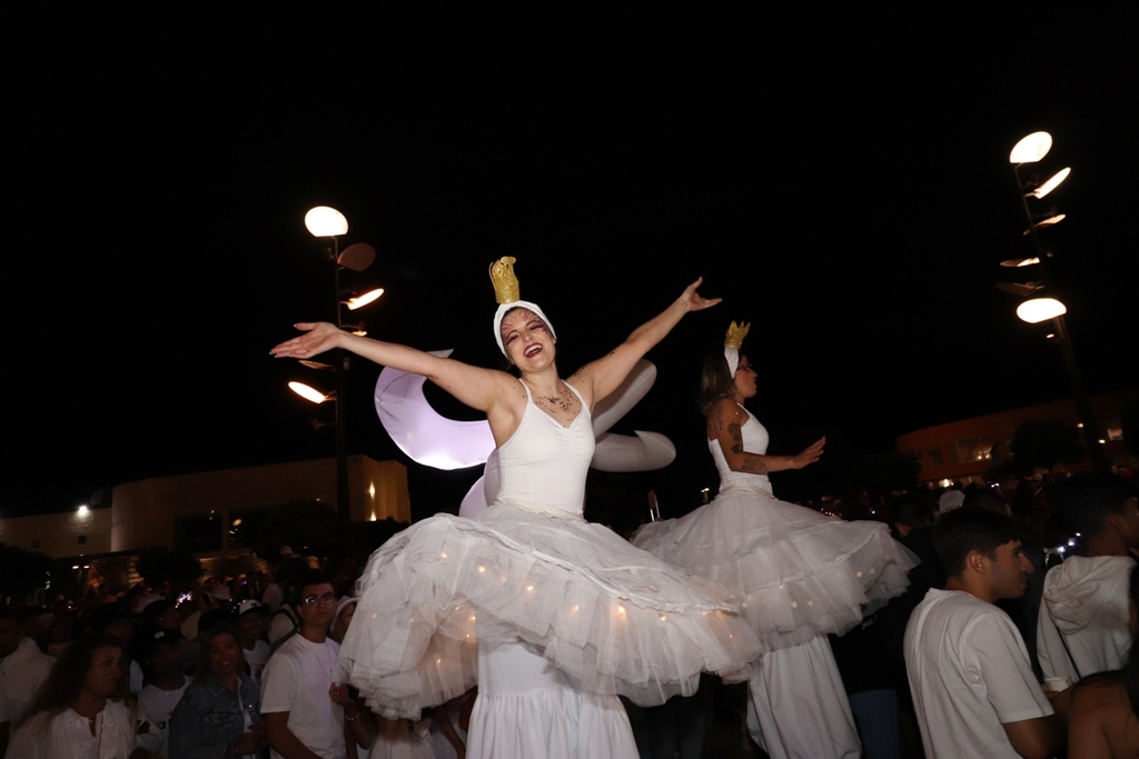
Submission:
M 577 388 L 590 407 L 617 389 L 629 372 L 649 349 L 664 339 L 689 311 L 702 311 L 720 303 L 720 298 L 702 297 L 696 288 L 704 278 L 696 280 L 677 298 L 671 306 L 652 320 L 645 322 L 618 345 L 613 353 L 592 361 L 579 369 L 570 378 L 570 383 Z

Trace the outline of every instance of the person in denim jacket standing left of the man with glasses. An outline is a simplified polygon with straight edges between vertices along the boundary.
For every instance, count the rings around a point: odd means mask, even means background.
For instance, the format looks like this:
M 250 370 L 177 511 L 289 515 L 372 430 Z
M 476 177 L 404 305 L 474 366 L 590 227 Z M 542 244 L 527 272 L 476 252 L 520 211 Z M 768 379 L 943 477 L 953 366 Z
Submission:
M 261 688 L 241 671 L 237 629 L 206 636 L 200 671 L 170 718 L 170 759 L 256 759 L 264 746 Z

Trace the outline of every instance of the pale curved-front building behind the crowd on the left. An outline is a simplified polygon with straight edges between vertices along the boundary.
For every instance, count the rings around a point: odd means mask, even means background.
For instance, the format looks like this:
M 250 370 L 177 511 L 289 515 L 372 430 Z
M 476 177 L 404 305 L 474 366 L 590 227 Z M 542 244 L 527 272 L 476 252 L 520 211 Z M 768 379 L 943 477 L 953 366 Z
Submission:
M 411 520 L 407 468 L 349 456 L 351 521 Z M 0 542 L 52 559 L 147 547 L 200 558 L 247 553 L 259 519 L 294 500 L 336 505 L 336 460 L 246 467 L 125 482 L 110 508 L 0 519 Z

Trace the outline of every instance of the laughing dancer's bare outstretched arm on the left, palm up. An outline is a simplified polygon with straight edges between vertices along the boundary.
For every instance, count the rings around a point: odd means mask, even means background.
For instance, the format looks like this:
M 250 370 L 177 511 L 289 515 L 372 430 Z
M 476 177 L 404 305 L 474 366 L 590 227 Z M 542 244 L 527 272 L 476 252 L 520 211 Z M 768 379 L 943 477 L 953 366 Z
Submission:
M 303 335 L 285 340 L 269 353 L 278 358 L 309 358 L 333 348 L 344 348 L 377 364 L 421 374 L 487 416 L 495 413 L 502 391 L 516 383 L 505 372 L 441 358 L 405 345 L 358 337 L 328 322 L 302 322 L 296 328 Z

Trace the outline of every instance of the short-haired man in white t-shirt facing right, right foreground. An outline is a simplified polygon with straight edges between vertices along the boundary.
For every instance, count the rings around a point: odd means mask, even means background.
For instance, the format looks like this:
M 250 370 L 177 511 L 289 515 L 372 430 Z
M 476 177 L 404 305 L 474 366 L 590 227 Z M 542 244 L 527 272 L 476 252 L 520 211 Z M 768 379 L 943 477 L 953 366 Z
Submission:
M 1056 756 L 1071 691 L 1046 695 L 1016 625 L 993 604 L 1024 595 L 1032 570 L 1013 520 L 954 509 L 939 520 L 935 546 L 945 589 L 931 589 L 906 628 L 906 668 L 926 758 Z

